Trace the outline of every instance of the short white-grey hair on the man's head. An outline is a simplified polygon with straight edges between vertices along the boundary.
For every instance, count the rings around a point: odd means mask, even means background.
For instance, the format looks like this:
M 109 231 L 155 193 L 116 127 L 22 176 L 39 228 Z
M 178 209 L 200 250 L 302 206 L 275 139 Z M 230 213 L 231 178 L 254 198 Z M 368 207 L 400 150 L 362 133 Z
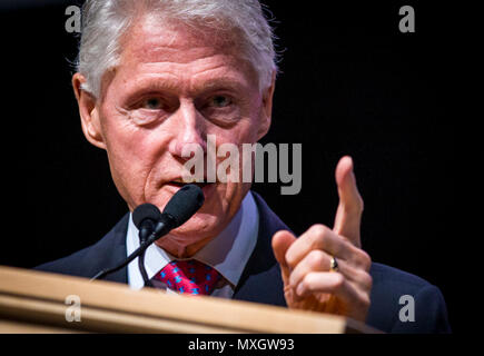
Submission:
M 82 31 L 77 71 L 81 86 L 99 98 L 102 76 L 119 65 L 120 38 L 139 11 L 162 21 L 206 28 L 237 36 L 240 56 L 258 75 L 259 90 L 268 88 L 277 71 L 274 33 L 259 0 L 87 0 L 82 7 Z

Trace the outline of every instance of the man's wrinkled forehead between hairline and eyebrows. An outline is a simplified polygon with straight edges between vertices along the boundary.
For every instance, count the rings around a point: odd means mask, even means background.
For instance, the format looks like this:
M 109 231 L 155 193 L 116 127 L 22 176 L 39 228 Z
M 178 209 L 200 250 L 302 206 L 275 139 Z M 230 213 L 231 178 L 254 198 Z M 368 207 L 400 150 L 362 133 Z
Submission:
M 131 28 L 124 39 L 119 65 L 128 69 L 122 76 L 126 78 L 125 82 L 137 77 L 152 75 L 156 78 L 162 75 L 165 78 L 160 80 L 166 80 L 166 83 L 150 86 L 184 92 L 227 86 L 229 81 L 235 81 L 231 87 L 239 89 L 257 85 L 257 76 L 254 76 L 250 63 L 239 58 L 237 48 L 228 46 L 227 41 L 221 46 L 220 40 L 208 41 L 206 36 L 197 38 L 189 31 L 184 31 L 184 27 L 180 26 L 160 27 L 152 26 L 149 21 L 138 23 L 140 26 Z M 210 71 L 217 71 L 214 72 L 216 78 L 211 81 L 211 78 L 204 80 Z M 170 78 L 167 78 L 168 76 Z M 197 78 L 200 76 L 203 79 L 198 81 Z

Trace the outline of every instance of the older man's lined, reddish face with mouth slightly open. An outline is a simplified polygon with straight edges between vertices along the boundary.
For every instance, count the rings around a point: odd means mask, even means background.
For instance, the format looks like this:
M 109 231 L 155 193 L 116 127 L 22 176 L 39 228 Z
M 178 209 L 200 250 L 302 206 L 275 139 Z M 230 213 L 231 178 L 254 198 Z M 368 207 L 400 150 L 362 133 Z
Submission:
M 273 90 L 260 93 L 238 48 L 185 27 L 160 27 L 141 18 L 121 41 L 117 69 L 105 76 L 102 97 L 91 103 L 77 90 L 88 140 L 108 152 L 115 184 L 132 210 L 160 209 L 180 189 L 186 144 L 256 142 L 270 123 Z M 82 77 L 75 76 L 75 88 Z M 274 87 L 274 86 L 273 86 Z M 220 158 L 219 158 L 220 159 Z M 215 182 L 203 188 L 205 205 L 174 230 L 166 246 L 209 240 L 235 215 L 250 185 Z

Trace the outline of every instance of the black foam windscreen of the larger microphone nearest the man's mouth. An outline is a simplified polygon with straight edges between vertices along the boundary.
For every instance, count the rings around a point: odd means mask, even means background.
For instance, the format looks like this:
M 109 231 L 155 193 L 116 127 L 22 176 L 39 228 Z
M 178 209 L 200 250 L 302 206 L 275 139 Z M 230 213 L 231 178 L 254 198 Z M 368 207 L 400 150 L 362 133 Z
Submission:
M 176 227 L 184 225 L 204 205 L 205 196 L 196 185 L 184 186 L 165 207 L 164 214 L 169 214 L 176 220 Z

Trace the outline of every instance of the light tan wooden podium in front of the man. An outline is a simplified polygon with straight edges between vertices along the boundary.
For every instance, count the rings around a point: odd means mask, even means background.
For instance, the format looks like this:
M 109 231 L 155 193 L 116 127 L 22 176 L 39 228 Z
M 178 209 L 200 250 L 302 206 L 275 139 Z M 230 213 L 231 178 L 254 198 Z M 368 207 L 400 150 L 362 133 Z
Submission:
M 0 333 L 276 333 L 376 330 L 344 317 L 0 266 Z

